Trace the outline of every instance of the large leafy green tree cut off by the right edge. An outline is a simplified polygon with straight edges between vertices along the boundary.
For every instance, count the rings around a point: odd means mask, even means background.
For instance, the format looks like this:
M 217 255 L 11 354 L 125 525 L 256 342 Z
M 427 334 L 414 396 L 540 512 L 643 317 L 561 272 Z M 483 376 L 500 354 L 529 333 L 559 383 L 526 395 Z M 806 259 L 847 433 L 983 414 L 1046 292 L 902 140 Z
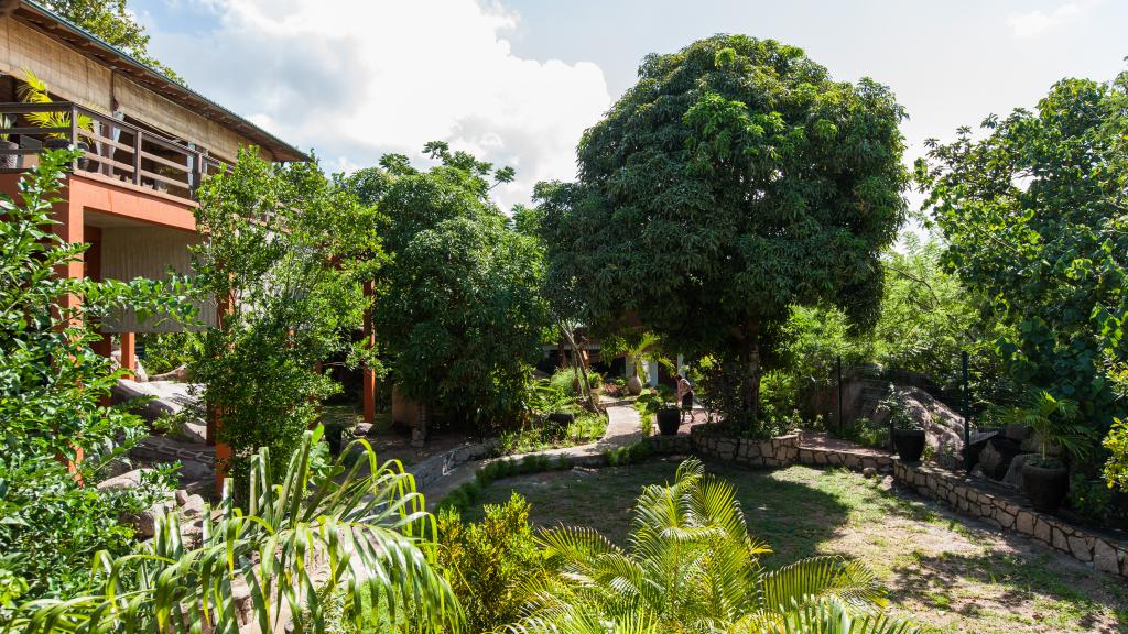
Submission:
M 1013 327 L 998 347 L 1015 382 L 1077 402 L 1102 433 L 1126 412 L 1109 380 L 1128 359 L 1126 112 L 1128 73 L 1066 79 L 918 164 L 946 264 Z

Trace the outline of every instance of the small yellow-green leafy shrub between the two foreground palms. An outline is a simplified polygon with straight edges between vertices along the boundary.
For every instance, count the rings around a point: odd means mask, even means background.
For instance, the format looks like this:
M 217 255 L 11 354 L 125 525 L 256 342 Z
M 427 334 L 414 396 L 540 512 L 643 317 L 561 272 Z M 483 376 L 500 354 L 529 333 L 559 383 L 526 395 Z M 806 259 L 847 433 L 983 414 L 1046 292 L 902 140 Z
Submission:
M 481 522 L 457 511 L 439 513 L 439 565 L 466 611 L 468 632 L 495 632 L 517 622 L 521 588 L 543 575 L 543 557 L 529 527 L 529 503 L 514 493 L 505 504 L 486 504 Z

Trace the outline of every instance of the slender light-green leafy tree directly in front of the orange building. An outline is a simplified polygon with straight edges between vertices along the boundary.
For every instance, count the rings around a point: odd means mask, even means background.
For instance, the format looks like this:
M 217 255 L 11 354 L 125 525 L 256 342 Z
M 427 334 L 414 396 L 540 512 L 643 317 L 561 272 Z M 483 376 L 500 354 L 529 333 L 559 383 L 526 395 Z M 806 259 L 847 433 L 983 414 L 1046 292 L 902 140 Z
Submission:
M 361 326 L 361 281 L 379 259 L 372 211 L 316 162 L 279 166 L 247 149 L 203 183 L 196 223 L 205 236 L 193 248 L 197 280 L 230 298 L 230 311 L 203 333 L 191 371 L 222 411 L 230 473 L 243 477 L 267 447 L 277 476 L 321 400 L 340 389 L 314 369 L 350 350 Z

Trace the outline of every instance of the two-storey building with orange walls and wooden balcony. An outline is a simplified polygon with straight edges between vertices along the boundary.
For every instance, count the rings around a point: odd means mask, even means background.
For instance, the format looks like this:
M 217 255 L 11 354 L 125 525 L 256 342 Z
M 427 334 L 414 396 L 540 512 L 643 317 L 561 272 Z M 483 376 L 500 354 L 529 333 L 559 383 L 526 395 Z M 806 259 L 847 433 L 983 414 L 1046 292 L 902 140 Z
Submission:
M 49 103 L 27 103 L 35 85 Z M 23 98 L 21 98 L 23 97 Z M 59 115 L 51 126 L 34 113 Z M 160 279 L 190 272 L 200 239 L 193 210 L 201 180 L 233 162 L 243 147 L 273 161 L 308 157 L 255 124 L 171 81 L 59 15 L 24 0 L 0 7 L 0 191 L 12 195 L 44 147 L 85 156 L 65 177 L 58 234 L 89 243 L 62 274 L 95 280 Z M 214 306 L 201 319 L 215 322 Z M 134 363 L 134 335 L 159 328 L 123 315 L 103 324 L 120 335 L 121 361 Z M 165 326 L 167 327 L 167 326 Z M 108 337 L 103 341 L 109 354 Z M 214 443 L 214 430 L 209 441 Z

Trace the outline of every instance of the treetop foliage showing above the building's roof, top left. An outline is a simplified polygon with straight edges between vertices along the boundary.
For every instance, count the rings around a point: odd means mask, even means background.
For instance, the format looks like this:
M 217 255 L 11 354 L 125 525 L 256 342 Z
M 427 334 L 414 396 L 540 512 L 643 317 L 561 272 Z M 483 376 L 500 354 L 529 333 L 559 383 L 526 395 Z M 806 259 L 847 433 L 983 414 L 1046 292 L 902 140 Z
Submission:
M 149 55 L 149 34 L 138 24 L 127 0 L 43 0 L 42 3 L 165 77 L 184 83 L 173 69 Z

